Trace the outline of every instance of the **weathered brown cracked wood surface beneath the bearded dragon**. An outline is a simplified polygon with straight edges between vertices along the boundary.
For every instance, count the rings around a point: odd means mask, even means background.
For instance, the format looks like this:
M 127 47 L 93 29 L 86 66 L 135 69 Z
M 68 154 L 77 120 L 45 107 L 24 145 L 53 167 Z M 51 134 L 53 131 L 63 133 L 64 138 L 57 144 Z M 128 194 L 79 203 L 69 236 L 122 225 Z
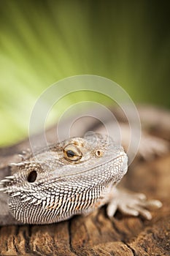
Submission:
M 26 146 L 28 141 L 1 149 L 0 171 Z M 53 225 L 0 227 L 0 255 L 170 255 L 170 154 L 131 166 L 122 184 L 163 207 L 151 221 L 119 212 L 111 220 L 103 207 Z

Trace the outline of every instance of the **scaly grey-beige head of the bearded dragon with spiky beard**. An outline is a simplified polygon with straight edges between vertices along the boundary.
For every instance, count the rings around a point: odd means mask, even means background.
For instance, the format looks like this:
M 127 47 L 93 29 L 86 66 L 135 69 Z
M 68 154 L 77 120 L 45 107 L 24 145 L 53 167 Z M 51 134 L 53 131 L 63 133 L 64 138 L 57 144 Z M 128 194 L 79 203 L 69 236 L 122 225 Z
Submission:
M 94 203 L 117 184 L 127 171 L 127 156 L 111 138 L 95 134 L 69 138 L 12 165 L 12 176 L 0 182 L 9 211 L 20 222 L 51 223 L 88 209 L 90 191 Z

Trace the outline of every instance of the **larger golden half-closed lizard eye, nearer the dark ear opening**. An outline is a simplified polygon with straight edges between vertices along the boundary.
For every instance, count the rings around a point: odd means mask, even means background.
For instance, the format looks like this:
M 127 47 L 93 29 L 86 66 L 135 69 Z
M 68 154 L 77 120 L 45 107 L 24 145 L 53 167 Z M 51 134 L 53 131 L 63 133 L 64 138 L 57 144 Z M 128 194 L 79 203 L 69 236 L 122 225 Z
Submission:
M 81 152 L 78 150 L 78 148 L 76 146 L 74 146 L 73 144 L 69 144 L 67 145 L 64 149 L 63 149 L 63 154 L 64 157 L 67 160 L 71 160 L 73 162 L 76 162 L 78 160 L 80 160 L 82 158 L 82 154 Z

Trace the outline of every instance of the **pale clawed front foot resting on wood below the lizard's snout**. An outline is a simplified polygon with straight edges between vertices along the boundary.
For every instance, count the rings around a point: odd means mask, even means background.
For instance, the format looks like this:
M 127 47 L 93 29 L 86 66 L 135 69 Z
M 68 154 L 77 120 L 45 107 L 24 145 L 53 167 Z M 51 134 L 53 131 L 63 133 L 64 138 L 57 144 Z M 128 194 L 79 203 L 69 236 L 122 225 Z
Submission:
M 144 219 L 152 219 L 150 210 L 161 208 L 162 206 L 159 200 L 147 200 L 144 194 L 117 188 L 113 188 L 112 193 L 107 206 L 108 217 L 113 217 L 115 212 L 119 210 L 125 215 L 141 215 Z

